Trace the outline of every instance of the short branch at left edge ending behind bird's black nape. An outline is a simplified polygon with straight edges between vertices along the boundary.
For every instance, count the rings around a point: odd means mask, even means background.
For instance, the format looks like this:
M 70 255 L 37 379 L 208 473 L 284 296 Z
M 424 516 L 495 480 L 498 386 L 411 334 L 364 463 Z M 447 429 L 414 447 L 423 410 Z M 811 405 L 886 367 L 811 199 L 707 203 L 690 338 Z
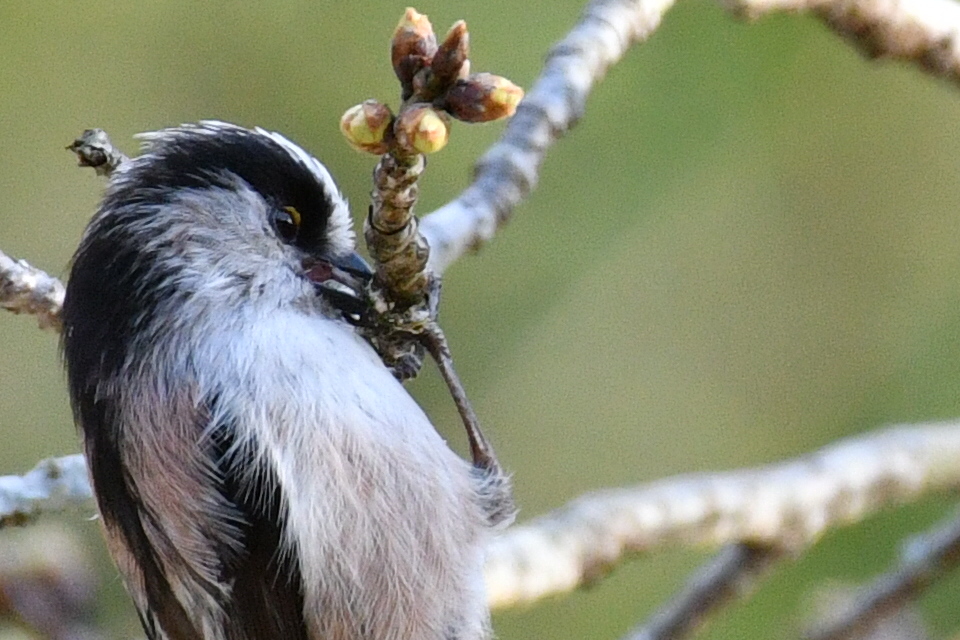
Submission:
M 14 313 L 32 313 L 41 329 L 60 330 L 63 284 L 0 251 L 0 307 Z

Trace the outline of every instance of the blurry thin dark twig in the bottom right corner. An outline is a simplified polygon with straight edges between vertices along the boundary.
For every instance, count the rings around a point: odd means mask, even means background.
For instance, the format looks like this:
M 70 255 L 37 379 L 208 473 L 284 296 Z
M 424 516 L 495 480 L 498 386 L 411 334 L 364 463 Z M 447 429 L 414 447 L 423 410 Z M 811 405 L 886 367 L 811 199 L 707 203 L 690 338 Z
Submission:
M 808 640 L 861 638 L 960 565 L 960 518 L 910 540 L 900 566 L 864 588 L 835 619 L 811 630 Z

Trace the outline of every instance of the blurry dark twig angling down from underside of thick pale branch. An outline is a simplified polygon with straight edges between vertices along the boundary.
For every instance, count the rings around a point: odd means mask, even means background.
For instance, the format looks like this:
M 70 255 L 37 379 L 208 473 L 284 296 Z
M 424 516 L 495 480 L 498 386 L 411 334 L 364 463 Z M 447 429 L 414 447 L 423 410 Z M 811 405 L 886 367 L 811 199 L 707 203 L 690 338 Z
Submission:
M 784 555 L 777 547 L 746 543 L 725 547 L 694 573 L 680 594 L 624 640 L 680 640 L 693 635 L 710 614 L 752 593 Z

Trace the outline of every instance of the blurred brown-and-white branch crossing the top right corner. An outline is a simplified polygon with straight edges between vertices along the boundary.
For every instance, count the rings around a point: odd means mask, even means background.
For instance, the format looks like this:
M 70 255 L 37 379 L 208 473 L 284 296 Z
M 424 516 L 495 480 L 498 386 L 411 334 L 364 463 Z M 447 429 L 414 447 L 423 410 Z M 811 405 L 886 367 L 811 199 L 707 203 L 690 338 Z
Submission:
M 721 0 L 754 19 L 775 11 L 811 11 L 870 57 L 918 64 L 960 82 L 960 4 L 953 0 Z

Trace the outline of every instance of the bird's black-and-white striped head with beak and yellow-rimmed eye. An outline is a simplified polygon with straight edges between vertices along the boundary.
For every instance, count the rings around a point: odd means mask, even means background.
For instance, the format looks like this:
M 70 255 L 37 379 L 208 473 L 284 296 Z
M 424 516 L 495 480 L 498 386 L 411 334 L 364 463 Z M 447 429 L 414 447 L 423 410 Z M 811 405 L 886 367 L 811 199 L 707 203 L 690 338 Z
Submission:
M 142 134 L 74 259 L 65 340 L 91 357 L 191 323 L 296 305 L 356 319 L 369 268 L 327 169 L 283 136 L 222 122 Z

